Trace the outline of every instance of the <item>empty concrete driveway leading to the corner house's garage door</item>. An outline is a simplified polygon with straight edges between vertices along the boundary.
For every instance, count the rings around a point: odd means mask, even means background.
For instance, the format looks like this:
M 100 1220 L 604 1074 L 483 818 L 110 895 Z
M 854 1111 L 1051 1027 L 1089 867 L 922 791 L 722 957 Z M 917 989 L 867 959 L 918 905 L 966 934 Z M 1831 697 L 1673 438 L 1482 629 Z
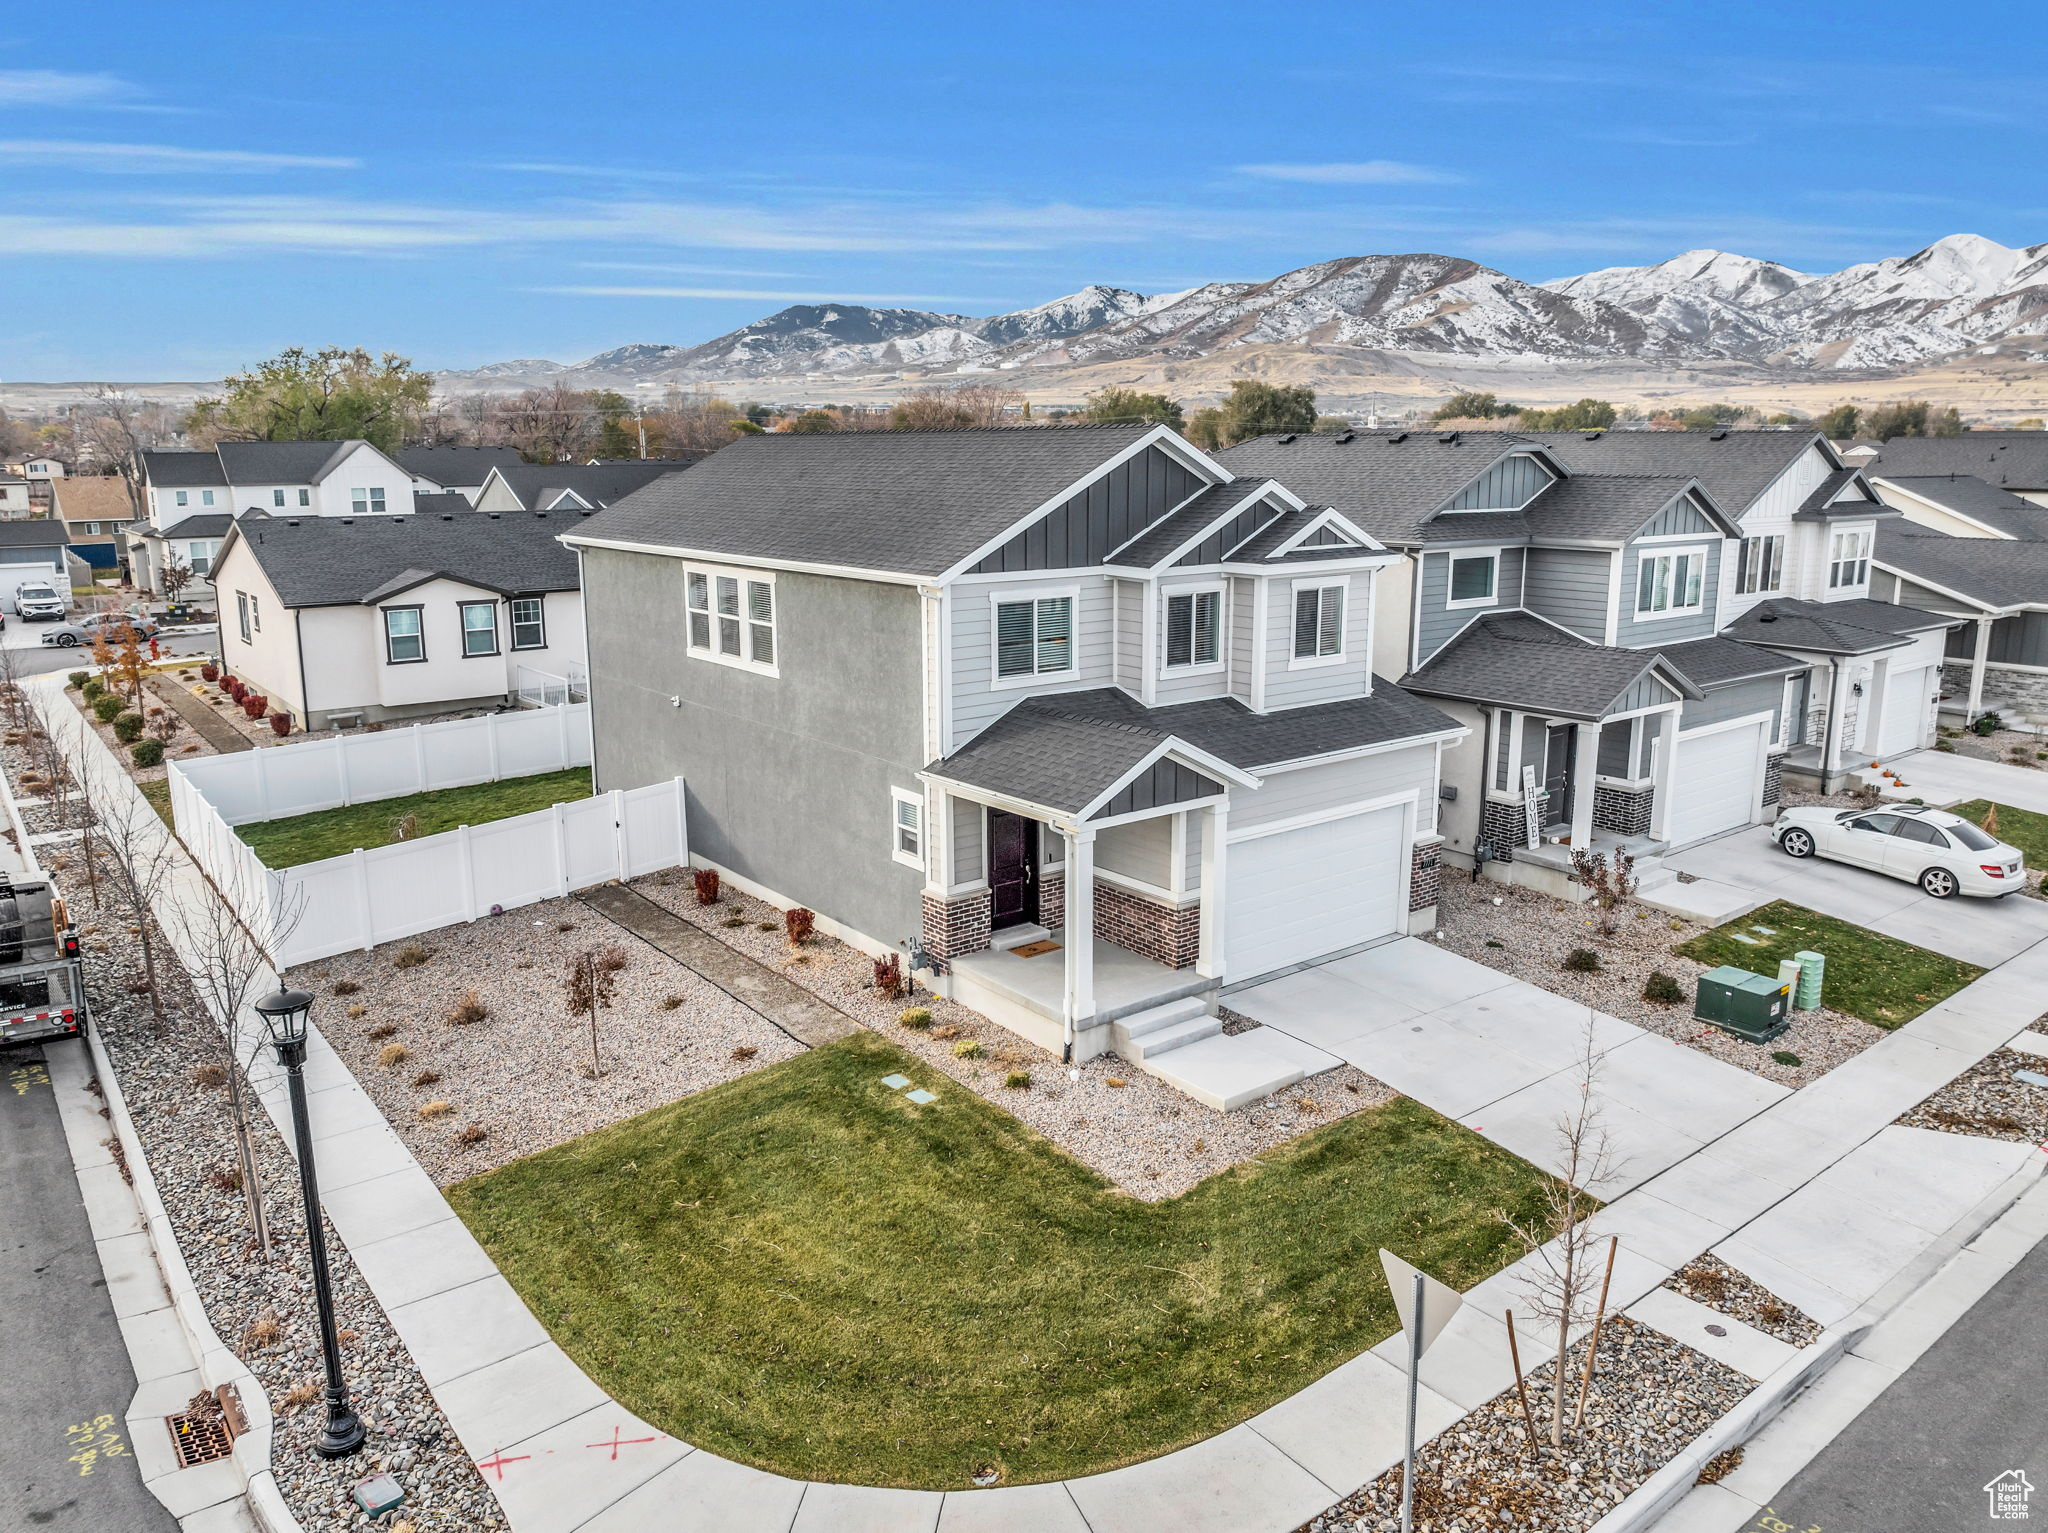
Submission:
M 1561 1169 L 1559 1120 L 1593 1095 L 1614 1197 L 1788 1097 L 1786 1087 L 1421 941 L 1370 948 L 1225 995 L 1274 1032 L 1350 1060 L 1522 1158 Z

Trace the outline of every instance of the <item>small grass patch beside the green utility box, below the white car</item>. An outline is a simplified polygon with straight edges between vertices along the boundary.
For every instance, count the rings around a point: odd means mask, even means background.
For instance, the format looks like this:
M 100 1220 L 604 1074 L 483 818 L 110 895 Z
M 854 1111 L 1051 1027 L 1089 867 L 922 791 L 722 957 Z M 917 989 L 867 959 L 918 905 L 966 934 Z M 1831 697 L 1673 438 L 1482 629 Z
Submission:
M 1772 927 L 1778 935 L 1763 935 L 1757 927 Z M 1737 941 L 1737 931 L 1755 937 L 1757 946 Z M 1786 901 L 1702 931 L 1671 952 L 1702 964 L 1733 964 L 1776 976 L 1782 958 L 1808 948 L 1827 958 L 1821 1005 L 1878 1027 L 1903 1027 L 1985 972 L 1960 958 L 1882 937 Z

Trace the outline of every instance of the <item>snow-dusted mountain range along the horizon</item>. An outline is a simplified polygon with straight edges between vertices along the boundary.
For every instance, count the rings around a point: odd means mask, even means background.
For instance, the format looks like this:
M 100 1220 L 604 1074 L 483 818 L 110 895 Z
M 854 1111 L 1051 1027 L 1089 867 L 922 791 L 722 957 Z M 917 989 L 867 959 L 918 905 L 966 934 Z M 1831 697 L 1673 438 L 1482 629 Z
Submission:
M 1655 266 L 1532 284 L 1456 256 L 1409 254 L 1346 256 L 1186 293 L 1085 287 L 987 317 L 807 303 L 696 346 L 635 344 L 582 362 L 522 358 L 440 377 L 473 387 L 877 381 L 1188 362 L 1241 346 L 1841 375 L 1923 366 L 2044 332 L 2048 244 L 2011 250 L 1956 233 L 1829 274 L 1688 250 Z M 2048 356 L 2030 350 L 2028 360 Z

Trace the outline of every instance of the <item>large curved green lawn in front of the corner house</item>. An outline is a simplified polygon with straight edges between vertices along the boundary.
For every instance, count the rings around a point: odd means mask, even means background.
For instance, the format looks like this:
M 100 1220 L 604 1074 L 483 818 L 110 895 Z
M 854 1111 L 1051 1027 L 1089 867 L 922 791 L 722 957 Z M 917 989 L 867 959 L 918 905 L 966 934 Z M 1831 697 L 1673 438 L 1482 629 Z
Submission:
M 786 1476 L 958 1488 L 1264 1410 L 1399 1328 L 1380 1246 L 1468 1287 L 1520 1255 L 1493 1210 L 1540 1224 L 1540 1183 L 1397 1099 L 1143 1203 L 856 1034 L 449 1199 L 664 1431 Z

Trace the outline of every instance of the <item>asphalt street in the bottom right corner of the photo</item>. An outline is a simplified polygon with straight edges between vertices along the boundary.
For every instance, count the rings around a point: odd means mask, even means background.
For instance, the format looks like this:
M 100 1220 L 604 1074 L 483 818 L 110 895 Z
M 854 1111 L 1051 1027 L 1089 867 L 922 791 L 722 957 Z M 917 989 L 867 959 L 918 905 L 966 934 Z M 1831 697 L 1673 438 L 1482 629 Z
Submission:
M 1741 1533 L 1989 1533 L 2048 1521 L 2044 1304 L 2048 1244 L 2028 1253 Z

